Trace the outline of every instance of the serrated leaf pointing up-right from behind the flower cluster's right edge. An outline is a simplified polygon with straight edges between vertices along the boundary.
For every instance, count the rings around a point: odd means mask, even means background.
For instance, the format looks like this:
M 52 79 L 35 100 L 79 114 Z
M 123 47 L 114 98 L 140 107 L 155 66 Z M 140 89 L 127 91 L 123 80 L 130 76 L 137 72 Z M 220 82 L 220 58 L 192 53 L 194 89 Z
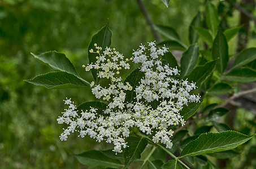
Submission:
M 188 75 L 186 75 L 183 79 L 188 79 L 189 82 L 196 82 L 196 86 L 199 88 L 201 84 L 205 82 L 207 77 L 211 75 L 215 68 L 216 60 L 209 61 L 204 65 L 196 66 Z

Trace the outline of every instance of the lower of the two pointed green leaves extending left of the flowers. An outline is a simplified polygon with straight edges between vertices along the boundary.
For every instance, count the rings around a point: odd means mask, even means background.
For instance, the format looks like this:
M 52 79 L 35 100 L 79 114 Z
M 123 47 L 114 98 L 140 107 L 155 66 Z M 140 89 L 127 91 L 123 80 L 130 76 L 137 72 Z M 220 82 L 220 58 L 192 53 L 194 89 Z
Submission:
M 44 86 L 46 88 L 88 88 L 81 79 L 75 75 L 67 72 L 49 72 L 37 75 L 36 77 L 25 80 L 37 86 Z

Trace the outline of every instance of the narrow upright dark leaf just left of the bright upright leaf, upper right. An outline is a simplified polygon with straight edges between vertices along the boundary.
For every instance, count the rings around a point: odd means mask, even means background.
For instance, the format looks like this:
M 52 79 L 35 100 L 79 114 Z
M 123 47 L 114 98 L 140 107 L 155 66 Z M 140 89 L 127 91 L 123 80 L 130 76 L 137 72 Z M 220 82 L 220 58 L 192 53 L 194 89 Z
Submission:
M 201 25 L 201 13 L 198 12 L 197 15 L 192 20 L 192 23 L 189 26 L 189 42 L 194 44 L 197 42 L 198 33 L 192 28 L 193 26 L 200 26 Z

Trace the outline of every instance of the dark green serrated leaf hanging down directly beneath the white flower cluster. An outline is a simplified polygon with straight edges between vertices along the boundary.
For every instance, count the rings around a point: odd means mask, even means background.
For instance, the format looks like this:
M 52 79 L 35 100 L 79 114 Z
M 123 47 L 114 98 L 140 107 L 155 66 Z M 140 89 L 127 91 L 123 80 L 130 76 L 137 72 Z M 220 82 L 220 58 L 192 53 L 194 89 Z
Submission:
M 141 153 L 147 145 L 147 140 L 138 137 L 128 137 L 126 139 L 128 147 L 124 149 L 124 168 L 128 167 L 134 159 L 140 159 Z

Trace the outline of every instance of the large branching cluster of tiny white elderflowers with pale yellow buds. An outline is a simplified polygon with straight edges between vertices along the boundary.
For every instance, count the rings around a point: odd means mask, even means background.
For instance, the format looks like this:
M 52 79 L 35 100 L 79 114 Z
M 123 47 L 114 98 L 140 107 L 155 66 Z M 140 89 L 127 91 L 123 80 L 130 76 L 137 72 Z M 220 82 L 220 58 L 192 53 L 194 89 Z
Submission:
M 196 84 L 175 78 L 179 70 L 161 61 L 168 48 L 156 48 L 154 42 L 150 42 L 148 48 L 141 45 L 131 59 L 125 60 L 115 48 L 106 47 L 102 51 L 102 47 L 94 46 L 96 51 L 91 49 L 90 52 L 98 54 L 96 63 L 83 67 L 86 71 L 97 69 L 99 78 L 111 80 L 109 87 L 95 82 L 90 85 L 93 95 L 107 103 L 106 109 L 100 111 L 90 107 L 90 110 L 77 113 L 71 99 L 64 100 L 69 106 L 57 121 L 69 126 L 60 135 L 60 140 L 66 141 L 70 132 L 77 131 L 80 137 L 89 135 L 98 142 L 113 143 L 113 151 L 120 153 L 127 146 L 125 139 L 131 128 L 137 127 L 146 135 L 152 135 L 154 143 L 160 142 L 171 148 L 171 127 L 185 124 L 179 112 L 189 102 L 200 99 L 199 95 L 189 94 L 196 89 Z M 145 74 L 138 86 L 123 83 L 119 75 L 122 68 L 130 69 L 128 61 L 140 64 L 140 72 Z M 135 101 L 125 101 L 127 92 L 135 93 Z

